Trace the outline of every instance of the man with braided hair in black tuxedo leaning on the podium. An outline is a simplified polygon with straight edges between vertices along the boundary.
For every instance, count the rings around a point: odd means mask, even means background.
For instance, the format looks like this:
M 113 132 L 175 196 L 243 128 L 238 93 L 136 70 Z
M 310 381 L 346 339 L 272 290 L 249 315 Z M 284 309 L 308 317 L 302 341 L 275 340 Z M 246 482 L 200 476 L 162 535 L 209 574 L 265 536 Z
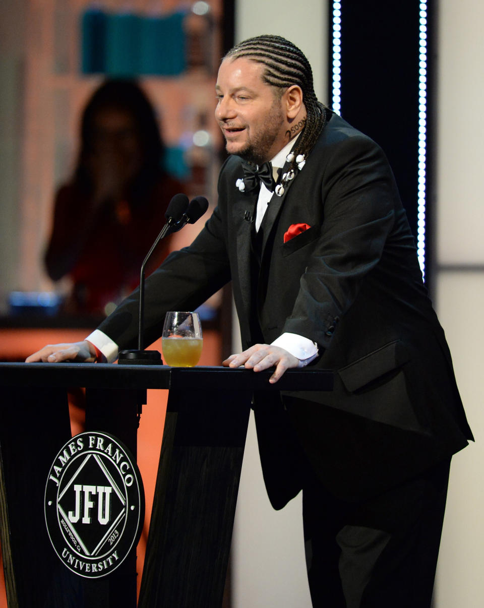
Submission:
M 231 280 L 244 350 L 224 365 L 272 383 L 334 369 L 332 393 L 254 396 L 269 499 L 303 491 L 313 606 L 428 608 L 450 459 L 472 434 L 392 171 L 279 36 L 230 50 L 216 95 L 218 206 L 148 278 L 145 343 Z M 134 292 L 85 342 L 27 361 L 114 361 L 136 334 Z

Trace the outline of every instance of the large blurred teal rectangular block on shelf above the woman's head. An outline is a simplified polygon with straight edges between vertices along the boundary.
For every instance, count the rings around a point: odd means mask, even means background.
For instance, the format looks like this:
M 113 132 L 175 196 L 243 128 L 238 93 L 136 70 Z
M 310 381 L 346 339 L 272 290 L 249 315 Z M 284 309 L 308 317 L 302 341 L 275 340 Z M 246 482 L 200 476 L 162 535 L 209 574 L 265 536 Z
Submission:
M 86 10 L 81 16 L 81 71 L 114 77 L 182 74 L 187 69 L 185 14 Z

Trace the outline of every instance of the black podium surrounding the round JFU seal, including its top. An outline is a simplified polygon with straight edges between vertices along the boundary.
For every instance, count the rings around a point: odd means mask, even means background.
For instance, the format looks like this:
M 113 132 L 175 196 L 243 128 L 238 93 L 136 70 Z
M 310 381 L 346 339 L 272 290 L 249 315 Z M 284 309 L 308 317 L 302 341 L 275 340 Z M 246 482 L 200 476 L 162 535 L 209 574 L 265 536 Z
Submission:
M 86 430 L 136 456 L 147 389 L 168 389 L 140 608 L 221 606 L 254 390 L 331 390 L 330 371 L 165 365 L 0 364 L 0 539 L 9 608 L 136 606 L 136 548 L 102 578 L 68 570 L 44 522 L 52 461 L 71 437 L 67 389 L 86 387 Z

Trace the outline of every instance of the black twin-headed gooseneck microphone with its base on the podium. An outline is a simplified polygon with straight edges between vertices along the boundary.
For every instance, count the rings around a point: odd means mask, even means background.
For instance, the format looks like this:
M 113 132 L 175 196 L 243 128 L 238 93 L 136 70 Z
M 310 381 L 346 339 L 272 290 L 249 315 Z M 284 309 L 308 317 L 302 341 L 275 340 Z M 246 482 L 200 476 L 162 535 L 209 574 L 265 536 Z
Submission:
M 167 223 L 156 237 L 151 249 L 148 251 L 141 264 L 139 280 L 139 327 L 138 327 L 138 350 L 122 350 L 118 356 L 118 363 L 132 365 L 162 365 L 161 354 L 157 350 L 143 350 L 144 309 L 145 309 L 145 266 L 153 254 L 159 241 L 172 232 L 178 232 L 185 224 L 195 224 L 197 219 L 206 212 L 209 201 L 204 196 L 196 196 L 188 203 L 188 196 L 176 194 L 168 205 L 165 219 Z

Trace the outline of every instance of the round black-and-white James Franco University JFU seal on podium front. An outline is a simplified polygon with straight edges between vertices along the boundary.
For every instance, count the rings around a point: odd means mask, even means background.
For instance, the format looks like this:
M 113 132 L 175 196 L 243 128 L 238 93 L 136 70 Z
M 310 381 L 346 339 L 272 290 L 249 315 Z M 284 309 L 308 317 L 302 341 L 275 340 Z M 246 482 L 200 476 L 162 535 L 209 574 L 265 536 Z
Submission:
M 139 540 L 145 502 L 139 470 L 116 437 L 91 431 L 61 447 L 44 502 L 47 532 L 77 575 L 109 575 Z

